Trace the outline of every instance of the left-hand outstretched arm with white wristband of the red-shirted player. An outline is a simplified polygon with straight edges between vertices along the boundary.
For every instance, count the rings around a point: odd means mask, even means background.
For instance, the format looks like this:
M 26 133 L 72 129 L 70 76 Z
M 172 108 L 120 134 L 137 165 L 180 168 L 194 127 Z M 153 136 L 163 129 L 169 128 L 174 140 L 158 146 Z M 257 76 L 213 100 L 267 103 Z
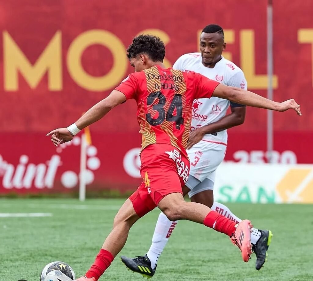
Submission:
M 48 133 L 47 136 L 51 136 L 51 141 L 55 146 L 71 141 L 76 133 L 100 120 L 113 107 L 124 101 L 126 101 L 125 95 L 120 91 L 113 90 L 109 96 L 91 107 L 82 117 L 72 124 L 72 128 L 71 126 L 67 128 L 58 128 Z

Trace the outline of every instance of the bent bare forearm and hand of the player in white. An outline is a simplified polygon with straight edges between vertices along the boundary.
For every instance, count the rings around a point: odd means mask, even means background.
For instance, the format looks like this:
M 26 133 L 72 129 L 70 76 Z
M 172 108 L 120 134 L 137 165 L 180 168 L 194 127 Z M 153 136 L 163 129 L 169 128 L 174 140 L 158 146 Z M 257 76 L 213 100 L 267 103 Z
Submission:
M 230 109 L 231 113 L 218 121 L 192 131 L 188 138 L 187 149 L 201 141 L 205 134 L 218 133 L 242 124 L 246 115 L 246 107 L 231 107 Z

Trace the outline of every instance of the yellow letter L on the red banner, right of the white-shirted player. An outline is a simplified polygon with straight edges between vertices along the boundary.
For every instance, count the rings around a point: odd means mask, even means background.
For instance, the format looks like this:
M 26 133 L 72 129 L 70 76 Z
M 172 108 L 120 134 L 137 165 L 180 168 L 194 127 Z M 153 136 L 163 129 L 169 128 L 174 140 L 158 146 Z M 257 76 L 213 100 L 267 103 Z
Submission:
M 255 74 L 254 31 L 240 31 L 240 67 L 244 71 L 250 89 L 267 89 L 268 75 Z M 278 77 L 273 75 L 273 89 L 278 87 Z

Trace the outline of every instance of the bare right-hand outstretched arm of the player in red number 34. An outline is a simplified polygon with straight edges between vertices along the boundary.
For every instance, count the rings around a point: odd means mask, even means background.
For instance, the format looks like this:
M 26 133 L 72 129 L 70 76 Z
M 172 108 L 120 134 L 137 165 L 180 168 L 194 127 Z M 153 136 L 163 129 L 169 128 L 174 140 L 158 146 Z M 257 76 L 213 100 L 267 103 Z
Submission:
M 218 84 L 212 96 L 217 96 L 219 98 L 227 99 L 251 107 L 260 107 L 280 112 L 293 109 L 299 116 L 301 116 L 300 105 L 298 105 L 294 99 L 283 102 L 275 102 L 263 96 L 259 96 L 253 92 L 236 87 L 225 86 L 223 84 Z

